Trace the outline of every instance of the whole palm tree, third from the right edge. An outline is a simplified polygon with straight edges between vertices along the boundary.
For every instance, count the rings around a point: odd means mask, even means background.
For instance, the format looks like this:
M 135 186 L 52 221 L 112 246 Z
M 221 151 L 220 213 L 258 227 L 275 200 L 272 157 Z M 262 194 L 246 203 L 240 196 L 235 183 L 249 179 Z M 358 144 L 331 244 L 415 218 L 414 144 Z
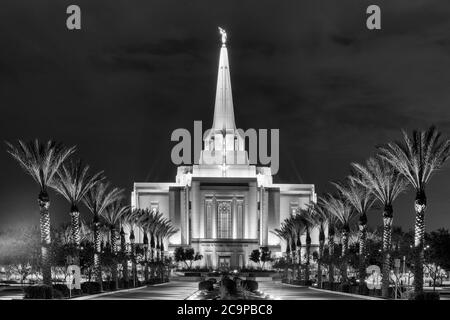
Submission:
M 355 172 L 356 179 L 359 178 L 358 173 Z M 359 213 L 359 285 L 360 288 L 366 280 L 366 238 L 367 238 L 367 212 L 372 207 L 375 198 L 372 195 L 372 190 L 366 188 L 351 177 L 346 181 L 346 184 L 340 182 L 332 183 L 341 193 L 341 195 L 353 206 L 356 212 Z M 361 289 L 360 289 L 361 290 Z

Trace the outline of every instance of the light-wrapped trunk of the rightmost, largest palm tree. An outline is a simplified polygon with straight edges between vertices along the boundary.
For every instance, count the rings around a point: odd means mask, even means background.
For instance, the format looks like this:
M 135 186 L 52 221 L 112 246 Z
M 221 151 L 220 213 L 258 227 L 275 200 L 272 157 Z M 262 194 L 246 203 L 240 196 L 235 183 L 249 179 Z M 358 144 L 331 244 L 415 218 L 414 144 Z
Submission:
M 425 238 L 425 209 L 427 198 L 425 190 L 417 192 L 414 202 L 416 211 L 416 221 L 414 225 L 414 249 L 415 249 L 415 268 L 414 268 L 414 293 L 417 295 L 423 292 L 423 261 L 424 261 L 424 238 Z

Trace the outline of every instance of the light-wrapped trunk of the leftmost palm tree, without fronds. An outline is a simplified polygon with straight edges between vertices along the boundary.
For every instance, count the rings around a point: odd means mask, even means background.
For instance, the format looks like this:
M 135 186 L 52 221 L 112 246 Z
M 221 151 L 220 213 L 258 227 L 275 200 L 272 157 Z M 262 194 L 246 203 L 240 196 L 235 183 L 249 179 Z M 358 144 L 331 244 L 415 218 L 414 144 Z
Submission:
M 52 269 L 50 261 L 50 198 L 46 191 L 41 191 L 38 197 L 41 228 L 42 278 L 46 285 L 52 285 Z

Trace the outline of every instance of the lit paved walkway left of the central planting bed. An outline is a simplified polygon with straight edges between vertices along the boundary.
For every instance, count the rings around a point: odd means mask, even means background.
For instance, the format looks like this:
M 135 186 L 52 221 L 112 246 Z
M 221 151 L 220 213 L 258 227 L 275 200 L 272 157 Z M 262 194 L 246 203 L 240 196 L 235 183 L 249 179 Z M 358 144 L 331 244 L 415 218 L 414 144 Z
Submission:
M 87 300 L 184 300 L 197 289 L 197 282 L 171 281 L 132 291 L 113 292 Z

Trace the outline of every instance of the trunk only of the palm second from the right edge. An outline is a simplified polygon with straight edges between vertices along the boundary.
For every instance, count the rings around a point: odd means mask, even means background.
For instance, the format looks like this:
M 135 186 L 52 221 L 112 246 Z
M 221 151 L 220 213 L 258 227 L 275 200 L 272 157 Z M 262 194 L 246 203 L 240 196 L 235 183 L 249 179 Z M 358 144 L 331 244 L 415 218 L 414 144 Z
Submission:
M 383 211 L 383 270 L 381 294 L 389 298 L 389 276 L 391 270 L 391 239 L 393 210 L 391 205 L 385 205 Z

